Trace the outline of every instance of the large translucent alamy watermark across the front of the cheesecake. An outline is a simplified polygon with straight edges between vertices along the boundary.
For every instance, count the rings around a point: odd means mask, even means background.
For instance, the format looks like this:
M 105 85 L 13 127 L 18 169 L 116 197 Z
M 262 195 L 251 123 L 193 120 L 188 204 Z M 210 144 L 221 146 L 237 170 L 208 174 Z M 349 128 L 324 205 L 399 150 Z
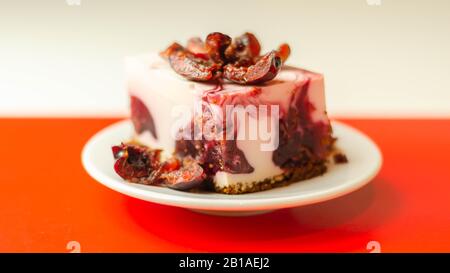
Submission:
M 261 151 L 279 145 L 279 105 L 216 105 L 195 102 L 193 109 L 178 105 L 172 109 L 171 127 L 175 140 L 259 141 Z

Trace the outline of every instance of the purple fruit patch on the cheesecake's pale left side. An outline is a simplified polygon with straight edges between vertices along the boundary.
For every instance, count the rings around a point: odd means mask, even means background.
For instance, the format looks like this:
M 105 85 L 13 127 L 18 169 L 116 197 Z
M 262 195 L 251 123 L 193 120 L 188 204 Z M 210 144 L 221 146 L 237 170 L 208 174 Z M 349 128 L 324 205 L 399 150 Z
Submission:
M 137 97 L 130 96 L 131 100 L 131 121 L 136 133 L 141 134 L 149 131 L 155 139 L 158 139 L 155 123 L 150 111 L 145 104 Z

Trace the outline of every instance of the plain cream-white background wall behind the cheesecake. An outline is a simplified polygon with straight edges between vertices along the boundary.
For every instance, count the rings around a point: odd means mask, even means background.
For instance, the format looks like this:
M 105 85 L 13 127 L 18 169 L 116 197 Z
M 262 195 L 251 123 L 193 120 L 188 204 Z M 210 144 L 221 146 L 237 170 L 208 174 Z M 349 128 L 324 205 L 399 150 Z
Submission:
M 332 116 L 450 117 L 450 1 L 368 1 L 0 0 L 0 116 L 126 115 L 124 56 L 250 30 L 325 74 Z

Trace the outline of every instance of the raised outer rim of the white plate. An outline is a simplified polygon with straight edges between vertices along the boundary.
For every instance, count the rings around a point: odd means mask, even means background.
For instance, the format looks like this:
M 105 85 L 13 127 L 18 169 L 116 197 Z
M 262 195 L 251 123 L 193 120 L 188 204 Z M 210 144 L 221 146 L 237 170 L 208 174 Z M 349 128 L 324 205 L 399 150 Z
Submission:
M 324 202 L 330 199 L 334 199 L 348 193 L 351 193 L 364 185 L 368 184 L 380 171 L 383 164 L 382 153 L 378 145 L 365 133 L 360 130 L 347 125 L 340 121 L 332 120 L 332 126 L 343 127 L 345 130 L 357 134 L 364 139 L 372 148 L 378 160 L 376 164 L 371 169 L 371 172 L 361 176 L 357 176 L 351 179 L 350 182 L 345 184 L 329 188 L 324 191 L 317 193 L 310 193 L 308 195 L 293 195 L 293 196 L 280 196 L 280 197 L 270 197 L 266 199 L 234 199 L 230 195 L 223 194 L 223 196 L 230 197 L 228 199 L 208 199 L 208 198 L 196 198 L 195 196 L 180 196 L 170 193 L 163 193 L 149 190 L 152 186 L 143 186 L 130 184 L 119 179 L 113 179 L 107 174 L 104 174 L 97 168 L 95 164 L 90 159 L 90 151 L 99 142 L 104 135 L 110 133 L 112 130 L 117 129 L 121 126 L 129 125 L 131 121 L 129 119 L 121 120 L 107 127 L 101 129 L 95 133 L 84 145 L 81 152 L 81 161 L 84 169 L 89 174 L 91 178 L 96 180 L 98 183 L 106 186 L 107 188 L 120 192 L 121 194 L 131 196 L 137 199 L 141 199 L 148 202 L 183 207 L 189 209 L 200 209 L 209 211 L 254 211 L 254 210 L 268 210 L 268 209 L 282 209 L 290 207 L 304 206 L 319 202 Z M 325 173 L 324 175 L 327 175 Z M 301 181 L 299 181 L 301 183 Z M 298 183 L 298 182 L 294 182 Z M 144 188 L 145 187 L 145 188 Z M 147 188 L 150 187 L 150 188 Z M 269 190 L 270 191 L 270 190 Z M 249 194 L 237 195 L 237 196 L 248 196 Z M 236 196 L 236 195 L 231 195 Z

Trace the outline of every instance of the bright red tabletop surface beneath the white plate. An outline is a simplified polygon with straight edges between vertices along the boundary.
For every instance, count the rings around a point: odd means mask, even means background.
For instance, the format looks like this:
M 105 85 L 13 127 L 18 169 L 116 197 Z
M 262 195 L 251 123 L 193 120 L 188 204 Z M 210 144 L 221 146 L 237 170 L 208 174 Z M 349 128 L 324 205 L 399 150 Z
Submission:
M 344 120 L 383 152 L 368 186 L 316 205 L 220 218 L 136 200 L 91 179 L 84 143 L 106 119 L 0 119 L 0 251 L 450 252 L 450 120 Z

